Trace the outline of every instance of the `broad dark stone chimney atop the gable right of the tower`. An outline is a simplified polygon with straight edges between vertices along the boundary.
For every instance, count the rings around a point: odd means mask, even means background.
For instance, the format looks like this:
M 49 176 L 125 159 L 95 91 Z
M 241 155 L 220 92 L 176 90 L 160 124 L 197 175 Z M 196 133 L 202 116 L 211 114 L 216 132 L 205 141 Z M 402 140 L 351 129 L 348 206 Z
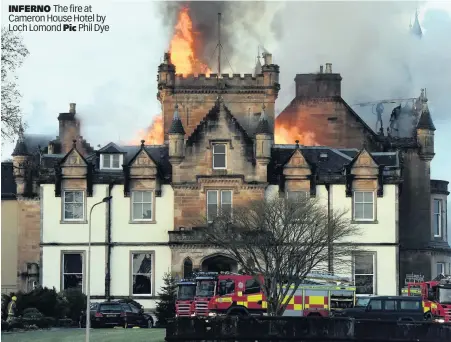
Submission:
M 335 97 L 341 96 L 341 75 L 332 73 L 332 64 L 326 63 L 326 69 L 320 66 L 319 73 L 297 74 L 296 97 Z

